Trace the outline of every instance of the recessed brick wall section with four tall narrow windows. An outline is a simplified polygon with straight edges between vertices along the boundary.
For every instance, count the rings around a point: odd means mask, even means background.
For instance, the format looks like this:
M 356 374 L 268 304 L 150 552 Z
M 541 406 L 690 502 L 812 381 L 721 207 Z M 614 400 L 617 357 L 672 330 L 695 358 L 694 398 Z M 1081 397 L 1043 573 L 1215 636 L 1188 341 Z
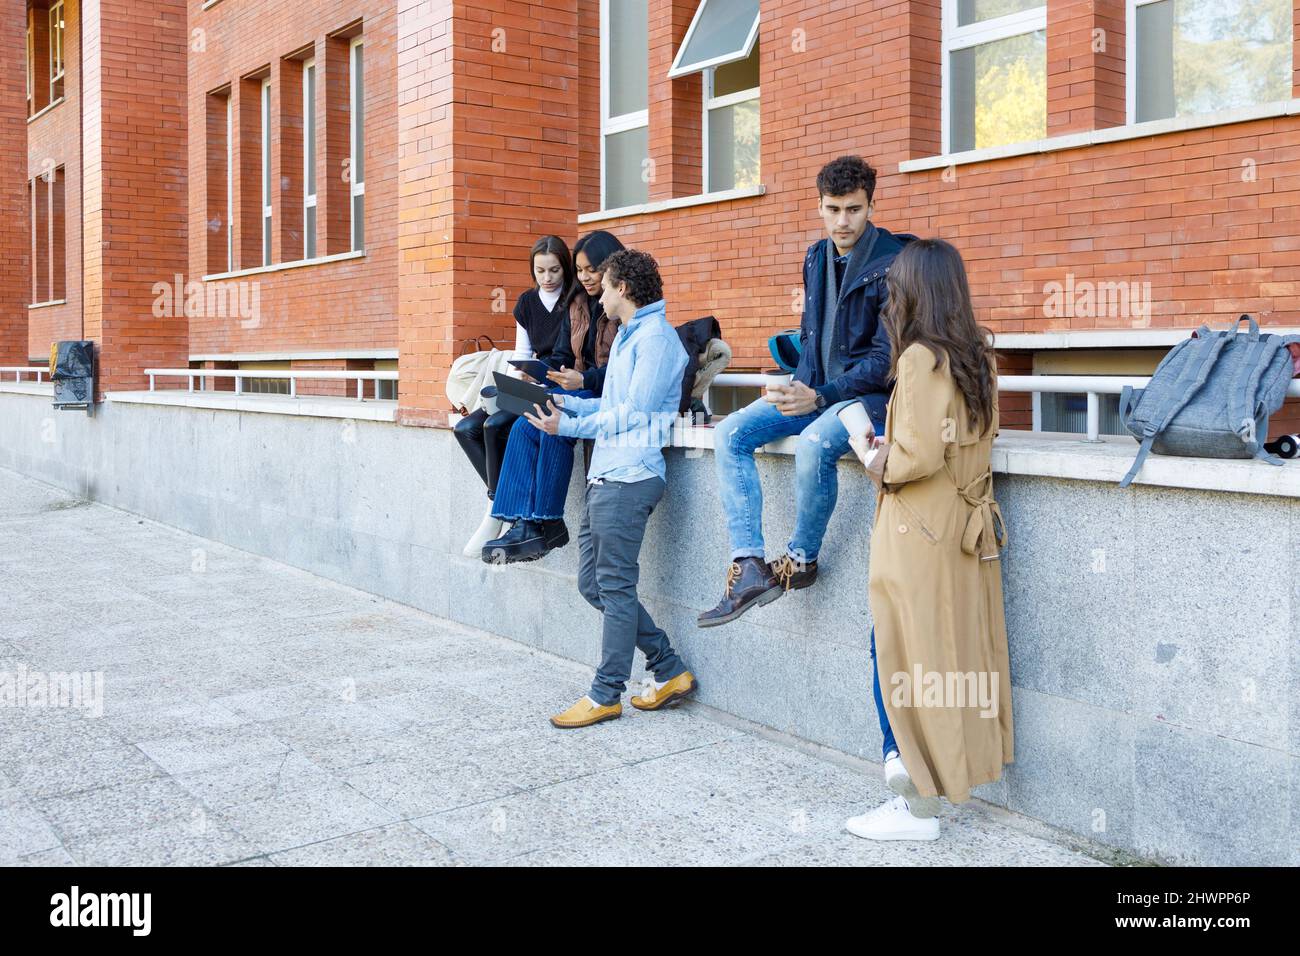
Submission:
M 394 349 L 396 321 L 396 83 L 393 0 L 322 0 L 308 4 L 220 3 L 207 10 L 188 1 L 188 117 L 191 129 L 207 125 L 209 94 L 234 87 L 235 247 L 237 267 L 261 265 L 260 77 L 272 75 L 273 261 L 303 258 L 302 57 L 317 65 L 317 255 L 348 248 L 347 39 L 352 26 L 365 42 L 365 255 L 360 259 L 290 268 L 222 282 L 257 315 L 190 316 L 194 354 Z M 354 29 L 355 33 L 355 29 Z M 246 79 L 256 75 L 257 79 Z M 240 82 L 244 79 L 244 82 Z M 212 274 L 209 243 L 224 243 L 220 220 L 209 213 L 216 190 L 202 135 L 188 143 L 190 280 Z M 221 187 L 224 189 L 224 186 Z M 224 209 L 224 199 L 218 209 Z M 239 289 L 237 284 L 246 284 Z M 212 284 L 208 284 L 212 285 Z M 231 299 L 234 300 L 234 299 Z

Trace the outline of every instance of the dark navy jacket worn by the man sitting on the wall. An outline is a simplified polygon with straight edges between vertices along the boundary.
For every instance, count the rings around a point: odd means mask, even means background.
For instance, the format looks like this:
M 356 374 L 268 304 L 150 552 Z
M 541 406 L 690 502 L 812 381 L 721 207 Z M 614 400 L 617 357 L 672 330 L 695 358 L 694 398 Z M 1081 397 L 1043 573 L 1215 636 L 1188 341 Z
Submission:
M 862 399 L 878 433 L 884 432 L 890 389 L 889 334 L 880 320 L 888 299 L 885 272 L 904 245 L 914 238 L 916 237 L 868 225 L 853 247 L 835 313 L 837 347 L 845 372 L 833 381 L 826 380 L 826 369 L 822 368 L 826 239 L 809 246 L 803 258 L 803 320 L 800 328 L 802 352 L 794 381 L 824 395 L 828 406 L 849 398 Z

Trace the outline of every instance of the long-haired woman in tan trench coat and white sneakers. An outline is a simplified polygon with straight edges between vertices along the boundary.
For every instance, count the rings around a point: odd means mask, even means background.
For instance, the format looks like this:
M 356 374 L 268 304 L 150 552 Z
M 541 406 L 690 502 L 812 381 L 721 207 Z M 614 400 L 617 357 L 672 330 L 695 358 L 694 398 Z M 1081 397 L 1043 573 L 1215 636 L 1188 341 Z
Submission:
M 887 750 L 896 747 L 885 779 L 900 796 L 848 827 L 936 839 L 937 797 L 968 800 L 1013 758 L 1006 532 L 989 470 L 997 364 L 952 245 L 910 243 L 888 287 L 894 389 L 884 444 L 864 459 L 880 484 L 868 584 L 878 713 Z

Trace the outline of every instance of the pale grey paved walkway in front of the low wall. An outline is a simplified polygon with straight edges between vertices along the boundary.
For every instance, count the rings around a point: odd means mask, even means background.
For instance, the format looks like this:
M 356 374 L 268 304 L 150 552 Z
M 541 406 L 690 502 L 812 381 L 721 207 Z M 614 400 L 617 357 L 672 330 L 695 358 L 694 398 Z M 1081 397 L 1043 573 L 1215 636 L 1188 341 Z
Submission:
M 3 864 L 1096 865 L 975 803 L 854 838 L 878 767 L 697 705 L 551 728 L 589 678 L 0 470 Z

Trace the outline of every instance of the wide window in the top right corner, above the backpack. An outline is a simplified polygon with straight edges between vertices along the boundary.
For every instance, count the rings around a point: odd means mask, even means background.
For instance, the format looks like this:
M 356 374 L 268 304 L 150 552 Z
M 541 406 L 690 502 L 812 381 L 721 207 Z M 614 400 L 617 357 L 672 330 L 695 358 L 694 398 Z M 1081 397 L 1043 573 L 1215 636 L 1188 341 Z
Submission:
M 1291 99 L 1291 0 L 1128 0 L 1131 122 Z

